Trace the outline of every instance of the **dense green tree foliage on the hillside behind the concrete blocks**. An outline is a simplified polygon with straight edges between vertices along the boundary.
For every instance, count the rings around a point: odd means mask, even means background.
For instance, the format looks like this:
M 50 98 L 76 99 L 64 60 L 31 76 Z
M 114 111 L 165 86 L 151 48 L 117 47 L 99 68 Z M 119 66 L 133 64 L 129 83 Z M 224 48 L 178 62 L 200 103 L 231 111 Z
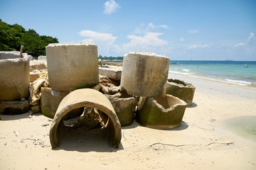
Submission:
M 29 55 L 46 55 L 46 46 L 49 43 L 58 43 L 58 39 L 39 35 L 33 29 L 25 30 L 17 23 L 9 25 L 0 19 L 0 51 L 19 51 L 23 45 L 23 52 Z

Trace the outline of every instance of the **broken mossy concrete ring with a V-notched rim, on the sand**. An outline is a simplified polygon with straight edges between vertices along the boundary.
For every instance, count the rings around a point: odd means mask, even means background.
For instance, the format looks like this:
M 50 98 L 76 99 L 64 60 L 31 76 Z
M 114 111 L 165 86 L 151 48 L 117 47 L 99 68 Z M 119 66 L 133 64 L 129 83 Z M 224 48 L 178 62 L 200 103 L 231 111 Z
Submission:
M 175 96 L 150 97 L 136 114 L 136 120 L 148 128 L 176 128 L 181 125 L 185 110 L 186 102 Z

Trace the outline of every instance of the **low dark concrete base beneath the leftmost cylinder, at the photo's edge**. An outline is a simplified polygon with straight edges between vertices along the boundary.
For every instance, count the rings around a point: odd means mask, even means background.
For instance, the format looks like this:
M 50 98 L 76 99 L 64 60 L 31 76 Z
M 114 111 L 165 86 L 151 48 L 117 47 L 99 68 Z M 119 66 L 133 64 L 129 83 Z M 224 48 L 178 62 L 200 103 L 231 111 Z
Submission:
M 29 101 L 0 101 L 0 114 L 17 115 L 28 112 L 30 109 Z

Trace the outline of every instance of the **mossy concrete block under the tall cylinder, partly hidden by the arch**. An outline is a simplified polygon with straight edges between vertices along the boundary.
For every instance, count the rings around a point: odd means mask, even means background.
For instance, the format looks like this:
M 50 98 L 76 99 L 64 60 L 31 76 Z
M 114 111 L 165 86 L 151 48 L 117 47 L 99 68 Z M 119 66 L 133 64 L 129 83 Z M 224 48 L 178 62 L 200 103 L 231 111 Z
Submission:
M 68 94 L 70 94 L 69 91 L 54 91 L 49 87 L 41 87 L 41 114 L 48 118 L 54 118 L 60 102 Z

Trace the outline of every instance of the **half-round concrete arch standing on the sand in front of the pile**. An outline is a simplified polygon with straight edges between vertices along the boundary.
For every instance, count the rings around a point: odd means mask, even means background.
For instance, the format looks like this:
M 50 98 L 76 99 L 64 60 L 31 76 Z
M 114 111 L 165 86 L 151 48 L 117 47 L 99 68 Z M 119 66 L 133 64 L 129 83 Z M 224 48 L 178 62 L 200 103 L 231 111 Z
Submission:
M 60 142 L 63 136 L 63 118 L 77 108 L 90 107 L 96 108 L 104 112 L 109 117 L 109 123 L 107 130 L 109 131 L 109 142 L 114 148 L 118 148 L 121 141 L 121 125 L 117 118 L 117 114 L 114 112 L 112 104 L 104 94 L 94 89 L 78 89 L 68 96 L 65 96 L 60 102 L 56 114 L 53 118 L 53 123 L 50 127 L 50 145 L 52 148 L 60 146 Z

